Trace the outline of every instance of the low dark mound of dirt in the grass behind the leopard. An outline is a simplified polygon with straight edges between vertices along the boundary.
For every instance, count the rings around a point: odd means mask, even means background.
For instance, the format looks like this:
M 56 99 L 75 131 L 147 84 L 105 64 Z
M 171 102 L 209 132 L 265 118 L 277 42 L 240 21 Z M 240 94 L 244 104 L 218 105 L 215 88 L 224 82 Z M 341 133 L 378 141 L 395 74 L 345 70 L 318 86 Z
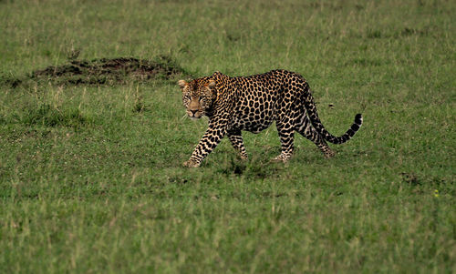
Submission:
M 61 66 L 47 66 L 22 79 L 7 79 L 13 87 L 27 80 L 52 82 L 57 85 L 116 85 L 129 81 L 147 82 L 173 80 L 178 76 L 190 76 L 169 56 L 153 60 L 132 57 L 73 60 Z M 25 83 L 24 83 L 25 84 Z

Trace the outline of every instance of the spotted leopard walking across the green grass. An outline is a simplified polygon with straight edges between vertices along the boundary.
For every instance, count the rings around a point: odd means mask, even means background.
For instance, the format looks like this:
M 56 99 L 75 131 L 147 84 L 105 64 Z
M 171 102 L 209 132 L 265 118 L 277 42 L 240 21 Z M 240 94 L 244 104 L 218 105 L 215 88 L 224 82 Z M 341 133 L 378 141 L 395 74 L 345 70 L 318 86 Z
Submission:
M 363 123 L 361 114 L 347 132 L 339 137 L 330 134 L 316 112 L 316 103 L 304 76 L 275 69 L 253 76 L 226 76 L 216 71 L 189 81 L 179 80 L 186 116 L 208 117 L 208 128 L 184 167 L 200 167 L 202 160 L 228 137 L 241 159 L 248 158 L 243 131 L 259 133 L 275 122 L 281 153 L 275 162 L 287 162 L 294 153 L 295 133 L 316 144 L 325 157 L 335 156 L 327 145 L 343 144 L 351 139 Z

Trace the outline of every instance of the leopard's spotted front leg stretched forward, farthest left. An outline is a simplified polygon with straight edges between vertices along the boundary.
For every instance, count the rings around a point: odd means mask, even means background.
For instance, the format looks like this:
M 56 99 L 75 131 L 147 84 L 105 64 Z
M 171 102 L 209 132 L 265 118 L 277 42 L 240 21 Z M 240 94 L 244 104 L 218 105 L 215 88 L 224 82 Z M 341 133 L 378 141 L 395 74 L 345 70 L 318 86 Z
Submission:
M 183 163 L 184 167 L 200 167 L 202 159 L 217 147 L 222 138 L 226 135 L 226 123 L 214 125 L 209 123 L 209 127 L 204 136 L 193 150 L 190 159 Z

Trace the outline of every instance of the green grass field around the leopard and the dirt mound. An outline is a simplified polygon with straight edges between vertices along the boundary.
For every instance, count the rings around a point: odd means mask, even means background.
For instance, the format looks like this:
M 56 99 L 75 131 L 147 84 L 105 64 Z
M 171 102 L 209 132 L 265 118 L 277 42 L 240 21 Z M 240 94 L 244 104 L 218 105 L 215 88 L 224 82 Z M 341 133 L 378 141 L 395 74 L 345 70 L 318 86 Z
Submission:
M 456 3 L 0 1 L 1 273 L 456 272 Z M 79 54 L 78 54 L 79 53 Z M 171 76 L 72 84 L 78 60 L 169 60 Z M 184 168 L 207 119 L 179 78 L 285 68 L 326 159 L 275 127 Z M 329 107 L 331 105 L 331 107 Z

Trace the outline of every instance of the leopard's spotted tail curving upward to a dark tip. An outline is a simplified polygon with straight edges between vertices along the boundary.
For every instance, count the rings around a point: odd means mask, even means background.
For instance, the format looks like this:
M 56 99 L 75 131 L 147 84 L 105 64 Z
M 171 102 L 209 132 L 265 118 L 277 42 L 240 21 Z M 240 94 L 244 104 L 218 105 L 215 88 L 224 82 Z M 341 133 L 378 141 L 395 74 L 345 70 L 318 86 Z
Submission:
M 307 92 L 307 95 L 305 96 L 305 106 L 307 109 L 308 116 L 310 118 L 310 122 L 312 123 L 312 126 L 316 128 L 316 131 L 325 138 L 326 141 L 333 143 L 333 144 L 343 144 L 347 142 L 349 139 L 351 139 L 355 133 L 359 130 L 361 125 L 363 124 L 363 117 L 361 114 L 357 114 L 355 116 L 355 122 L 353 125 L 351 125 L 350 128 L 348 128 L 347 132 L 344 133 L 340 137 L 335 137 L 329 132 L 327 132 L 326 128 L 323 126 L 323 124 L 320 121 L 320 118 L 318 117 L 318 114 L 316 113 L 316 105 L 314 102 L 314 97 L 312 94 L 310 94 L 310 91 Z

